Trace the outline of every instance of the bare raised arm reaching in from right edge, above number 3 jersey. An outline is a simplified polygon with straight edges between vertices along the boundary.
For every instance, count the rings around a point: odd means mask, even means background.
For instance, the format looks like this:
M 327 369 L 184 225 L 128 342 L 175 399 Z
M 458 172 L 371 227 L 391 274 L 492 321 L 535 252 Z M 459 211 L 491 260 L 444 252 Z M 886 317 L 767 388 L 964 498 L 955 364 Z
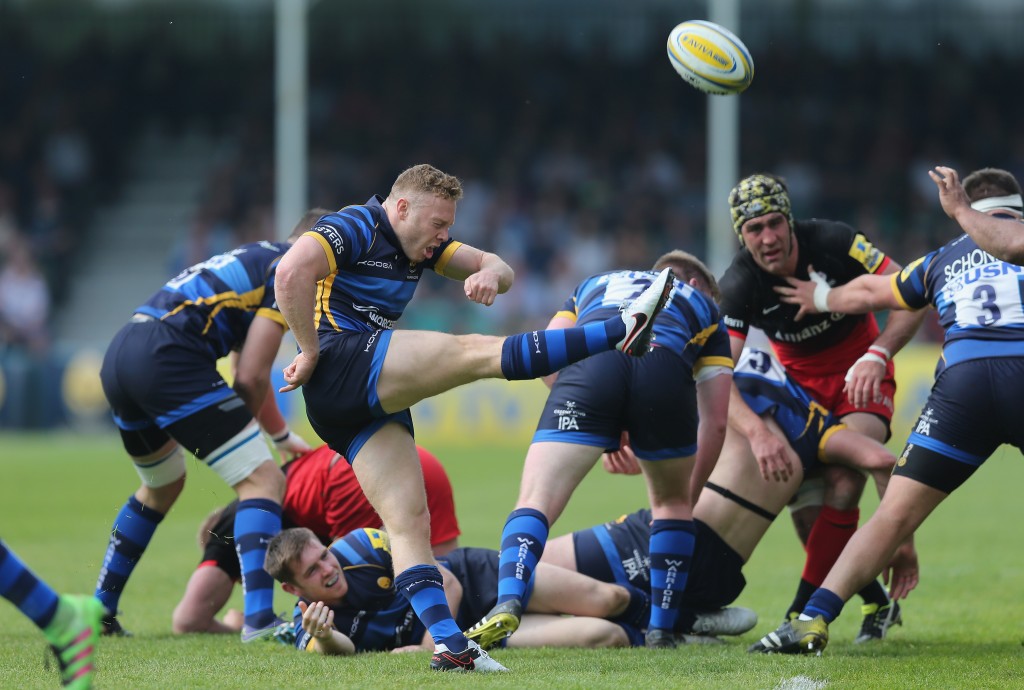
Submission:
M 928 176 L 939 188 L 942 210 L 979 247 L 1001 261 L 1024 264 L 1024 227 L 1020 221 L 999 218 L 971 208 L 967 191 L 952 168 L 936 166 L 934 171 L 928 171 Z

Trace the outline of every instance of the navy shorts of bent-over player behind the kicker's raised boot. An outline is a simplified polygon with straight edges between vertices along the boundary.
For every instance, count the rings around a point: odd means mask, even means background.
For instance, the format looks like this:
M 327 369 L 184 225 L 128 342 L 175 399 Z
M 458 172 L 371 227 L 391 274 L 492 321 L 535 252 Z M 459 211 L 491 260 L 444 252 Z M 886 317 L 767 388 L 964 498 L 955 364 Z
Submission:
M 617 448 L 624 430 L 641 460 L 696 452 L 696 388 L 682 357 L 664 348 L 642 358 L 603 352 L 563 369 L 534 442 Z

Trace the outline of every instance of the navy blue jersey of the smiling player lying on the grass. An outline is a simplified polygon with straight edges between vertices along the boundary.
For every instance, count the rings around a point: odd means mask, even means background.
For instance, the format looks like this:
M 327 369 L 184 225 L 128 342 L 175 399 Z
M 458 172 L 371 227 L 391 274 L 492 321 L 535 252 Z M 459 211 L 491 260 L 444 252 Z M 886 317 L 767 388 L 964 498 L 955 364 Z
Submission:
M 341 604 L 332 607 L 335 629 L 348 636 L 360 652 L 419 644 L 426 629 L 409 600 L 395 589 L 387 534 L 380 529 L 355 529 L 330 549 L 348 581 Z M 295 646 L 305 649 L 312 637 L 302 630 L 298 606 L 295 631 Z

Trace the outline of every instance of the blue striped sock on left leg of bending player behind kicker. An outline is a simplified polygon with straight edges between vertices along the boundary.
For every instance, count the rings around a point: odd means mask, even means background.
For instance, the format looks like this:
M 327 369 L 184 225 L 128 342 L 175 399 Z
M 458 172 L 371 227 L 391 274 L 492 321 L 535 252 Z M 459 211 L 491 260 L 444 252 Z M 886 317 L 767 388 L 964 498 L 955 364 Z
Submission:
M 118 614 L 121 593 L 163 519 L 163 513 L 146 508 L 132 494 L 114 520 L 96 580 L 96 599 L 102 602 L 111 615 Z

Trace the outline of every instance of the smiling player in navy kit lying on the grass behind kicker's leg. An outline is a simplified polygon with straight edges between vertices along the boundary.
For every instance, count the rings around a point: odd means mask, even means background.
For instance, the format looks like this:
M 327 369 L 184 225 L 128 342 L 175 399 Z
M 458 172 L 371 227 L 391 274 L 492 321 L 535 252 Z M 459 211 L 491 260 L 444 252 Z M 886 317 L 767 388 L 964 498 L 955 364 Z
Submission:
M 460 548 L 440 558 L 439 564 L 452 614 L 459 626 L 468 628 L 495 604 L 498 552 Z M 267 547 L 265 568 L 282 589 L 299 597 L 295 612 L 299 649 L 352 654 L 434 648 L 409 600 L 395 589 L 388 537 L 379 529 L 356 529 L 331 547 L 308 529 L 285 529 Z M 510 646 L 643 644 L 637 627 L 646 622 L 650 609 L 643 592 L 548 564 L 537 569 L 532 583 L 526 613 Z M 481 665 L 481 660 L 498 667 Z M 475 664 L 476 671 L 504 670 L 485 652 Z

